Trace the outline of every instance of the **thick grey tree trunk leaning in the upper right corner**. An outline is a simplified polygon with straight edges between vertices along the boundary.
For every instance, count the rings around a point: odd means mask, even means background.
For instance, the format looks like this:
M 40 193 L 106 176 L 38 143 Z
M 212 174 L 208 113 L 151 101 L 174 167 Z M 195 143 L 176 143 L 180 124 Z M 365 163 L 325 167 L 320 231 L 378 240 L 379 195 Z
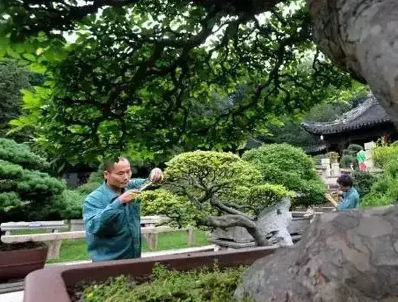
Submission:
M 333 63 L 367 82 L 398 125 L 396 0 L 307 0 L 314 42 Z

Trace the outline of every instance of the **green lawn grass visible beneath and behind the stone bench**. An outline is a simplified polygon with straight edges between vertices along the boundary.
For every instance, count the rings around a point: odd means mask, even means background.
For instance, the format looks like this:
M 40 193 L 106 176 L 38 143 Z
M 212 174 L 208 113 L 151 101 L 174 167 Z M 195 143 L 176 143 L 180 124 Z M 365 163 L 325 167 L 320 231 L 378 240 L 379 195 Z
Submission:
M 14 235 L 20 234 L 42 234 L 42 229 L 18 230 Z M 205 246 L 209 244 L 206 232 L 195 231 L 195 241 L 193 246 Z M 175 248 L 188 248 L 188 237 L 186 231 L 165 232 L 158 234 L 158 248 L 152 251 L 164 251 Z M 142 241 L 142 251 L 150 251 L 146 240 Z M 47 263 L 60 263 L 65 261 L 89 260 L 86 241 L 84 239 L 63 240 L 60 248 L 60 258 L 48 260 Z

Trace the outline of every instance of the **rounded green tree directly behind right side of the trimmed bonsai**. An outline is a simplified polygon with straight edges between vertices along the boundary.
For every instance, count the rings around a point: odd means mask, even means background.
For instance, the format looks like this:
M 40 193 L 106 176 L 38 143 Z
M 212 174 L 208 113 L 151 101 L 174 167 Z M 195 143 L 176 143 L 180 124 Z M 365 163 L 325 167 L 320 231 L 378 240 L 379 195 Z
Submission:
M 264 182 L 295 191 L 295 206 L 323 203 L 326 186 L 316 173 L 314 160 L 302 149 L 269 144 L 246 151 L 242 158 L 261 172 Z

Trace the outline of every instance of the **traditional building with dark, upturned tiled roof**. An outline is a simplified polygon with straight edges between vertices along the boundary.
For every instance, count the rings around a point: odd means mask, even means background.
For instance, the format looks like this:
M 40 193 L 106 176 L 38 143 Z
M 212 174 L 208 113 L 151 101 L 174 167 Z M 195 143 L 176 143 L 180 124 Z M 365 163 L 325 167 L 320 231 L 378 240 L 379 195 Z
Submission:
M 302 128 L 319 139 L 319 144 L 309 146 L 308 153 L 342 150 L 349 144 L 377 141 L 380 137 L 398 139 L 398 132 L 390 117 L 374 96 L 332 122 L 302 122 Z

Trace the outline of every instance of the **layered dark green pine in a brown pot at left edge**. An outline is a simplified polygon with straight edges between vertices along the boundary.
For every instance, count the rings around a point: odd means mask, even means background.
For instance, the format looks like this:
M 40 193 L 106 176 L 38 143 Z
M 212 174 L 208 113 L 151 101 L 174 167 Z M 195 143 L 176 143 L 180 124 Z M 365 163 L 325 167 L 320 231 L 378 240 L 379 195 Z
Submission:
M 42 172 L 48 168 L 49 163 L 24 144 L 0 138 L 1 222 L 60 219 L 52 205 L 65 189 L 65 182 Z M 46 255 L 45 244 L 0 241 L 0 279 L 22 278 L 43 268 Z

